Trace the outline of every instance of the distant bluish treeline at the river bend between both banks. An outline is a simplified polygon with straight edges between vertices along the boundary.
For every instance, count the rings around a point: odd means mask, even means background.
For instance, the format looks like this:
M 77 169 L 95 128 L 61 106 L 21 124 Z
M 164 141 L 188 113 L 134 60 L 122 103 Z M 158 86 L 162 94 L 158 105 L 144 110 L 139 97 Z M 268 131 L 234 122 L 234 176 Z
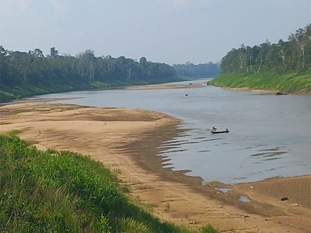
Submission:
M 219 64 L 212 62 L 199 65 L 187 62 L 186 64 L 174 64 L 173 68 L 177 75 L 189 78 L 212 78 L 220 73 Z

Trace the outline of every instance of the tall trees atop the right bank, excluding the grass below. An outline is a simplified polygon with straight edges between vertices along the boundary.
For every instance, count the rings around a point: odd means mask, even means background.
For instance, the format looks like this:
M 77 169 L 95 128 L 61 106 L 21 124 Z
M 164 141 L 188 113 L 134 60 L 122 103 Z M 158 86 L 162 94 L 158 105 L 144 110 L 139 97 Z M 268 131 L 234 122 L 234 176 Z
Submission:
M 223 73 L 259 74 L 287 71 L 303 72 L 311 69 L 311 24 L 288 37 L 271 44 L 268 40 L 254 47 L 232 49 L 221 60 Z

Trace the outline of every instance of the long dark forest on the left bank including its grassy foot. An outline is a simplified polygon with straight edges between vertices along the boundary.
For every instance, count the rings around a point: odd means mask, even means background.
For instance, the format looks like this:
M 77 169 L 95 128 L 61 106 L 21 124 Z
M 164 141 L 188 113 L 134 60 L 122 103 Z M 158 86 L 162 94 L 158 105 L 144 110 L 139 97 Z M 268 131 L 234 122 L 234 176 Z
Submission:
M 96 57 L 86 50 L 75 57 L 59 55 L 51 48 L 10 51 L 0 46 L 0 101 L 61 91 L 109 88 L 181 80 L 173 67 L 141 57 L 139 62 L 124 56 Z

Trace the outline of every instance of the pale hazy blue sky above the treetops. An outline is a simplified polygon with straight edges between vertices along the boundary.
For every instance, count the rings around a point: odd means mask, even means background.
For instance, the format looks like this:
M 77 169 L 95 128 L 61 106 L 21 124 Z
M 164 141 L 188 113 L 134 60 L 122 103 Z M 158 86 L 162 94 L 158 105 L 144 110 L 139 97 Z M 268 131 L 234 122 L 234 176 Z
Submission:
M 49 54 L 218 62 L 311 23 L 311 0 L 0 0 L 0 45 Z

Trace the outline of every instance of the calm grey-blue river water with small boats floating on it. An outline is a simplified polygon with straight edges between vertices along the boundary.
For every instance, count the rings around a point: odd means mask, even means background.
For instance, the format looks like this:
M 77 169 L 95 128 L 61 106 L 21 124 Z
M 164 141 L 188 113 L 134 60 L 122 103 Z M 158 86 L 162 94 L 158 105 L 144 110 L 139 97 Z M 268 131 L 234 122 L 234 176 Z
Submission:
M 80 98 L 56 102 L 155 110 L 183 119 L 180 127 L 190 130 L 161 145 L 173 146 L 161 152 L 171 159 L 163 166 L 189 169 L 187 175 L 200 176 L 205 182 L 241 183 L 311 173 L 311 96 L 276 96 L 205 85 L 81 91 L 39 98 Z M 230 132 L 211 134 L 208 129 L 212 126 Z

